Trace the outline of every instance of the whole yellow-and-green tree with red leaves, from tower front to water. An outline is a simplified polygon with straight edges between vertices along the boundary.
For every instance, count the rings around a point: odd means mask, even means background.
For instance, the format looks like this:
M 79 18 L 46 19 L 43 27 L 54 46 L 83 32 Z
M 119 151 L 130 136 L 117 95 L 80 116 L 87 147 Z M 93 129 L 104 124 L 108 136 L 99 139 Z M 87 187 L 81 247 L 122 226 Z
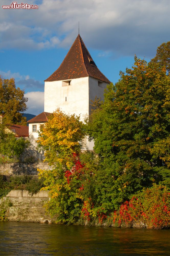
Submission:
M 85 136 L 80 117 L 67 115 L 57 109 L 41 127 L 39 147 L 45 150 L 46 161 L 53 167 L 39 170 L 44 188 L 50 190 L 47 210 L 56 222 L 74 223 L 80 217 L 82 198 L 82 169 L 80 152 Z

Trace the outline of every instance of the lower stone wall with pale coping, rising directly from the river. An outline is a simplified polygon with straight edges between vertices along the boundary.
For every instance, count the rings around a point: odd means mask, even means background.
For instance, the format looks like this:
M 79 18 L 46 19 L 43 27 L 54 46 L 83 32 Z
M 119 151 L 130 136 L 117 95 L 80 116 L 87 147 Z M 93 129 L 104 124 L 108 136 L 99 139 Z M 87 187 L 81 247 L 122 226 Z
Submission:
M 5 204 L 6 215 L 9 221 L 51 223 L 46 215 L 44 204 L 50 200 L 49 191 L 39 191 L 30 196 L 26 190 L 11 190 L 6 197 L 0 200 Z

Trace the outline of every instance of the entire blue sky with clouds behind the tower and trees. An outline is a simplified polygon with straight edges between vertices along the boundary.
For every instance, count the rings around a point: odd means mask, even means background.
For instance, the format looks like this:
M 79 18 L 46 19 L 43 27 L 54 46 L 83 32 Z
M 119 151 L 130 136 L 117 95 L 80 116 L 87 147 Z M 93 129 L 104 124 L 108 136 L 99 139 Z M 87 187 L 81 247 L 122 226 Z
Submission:
M 44 111 L 44 80 L 66 56 L 78 22 L 97 67 L 113 83 L 135 54 L 150 61 L 170 40 L 169 0 L 22 0 L 38 8 L 2 8 L 12 2 L 0 0 L 0 74 L 25 90 L 30 114 Z

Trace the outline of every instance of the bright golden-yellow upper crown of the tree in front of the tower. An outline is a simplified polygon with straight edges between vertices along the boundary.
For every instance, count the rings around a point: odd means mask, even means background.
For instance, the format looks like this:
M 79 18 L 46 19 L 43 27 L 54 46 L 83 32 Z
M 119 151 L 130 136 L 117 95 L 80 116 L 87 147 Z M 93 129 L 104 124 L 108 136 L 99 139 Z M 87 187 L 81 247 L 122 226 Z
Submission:
M 80 116 L 67 115 L 57 109 L 42 127 L 37 143 L 46 151 L 45 161 L 70 166 L 70 156 L 81 151 L 85 136 Z

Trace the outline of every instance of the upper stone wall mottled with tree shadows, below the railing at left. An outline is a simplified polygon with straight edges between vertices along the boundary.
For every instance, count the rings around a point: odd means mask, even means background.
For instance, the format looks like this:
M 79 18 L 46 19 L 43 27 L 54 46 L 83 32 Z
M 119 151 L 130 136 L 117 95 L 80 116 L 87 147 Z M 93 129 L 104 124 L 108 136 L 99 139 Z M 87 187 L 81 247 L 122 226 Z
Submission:
M 2 175 L 37 175 L 37 168 L 49 169 L 48 162 L 6 163 L 0 164 Z

